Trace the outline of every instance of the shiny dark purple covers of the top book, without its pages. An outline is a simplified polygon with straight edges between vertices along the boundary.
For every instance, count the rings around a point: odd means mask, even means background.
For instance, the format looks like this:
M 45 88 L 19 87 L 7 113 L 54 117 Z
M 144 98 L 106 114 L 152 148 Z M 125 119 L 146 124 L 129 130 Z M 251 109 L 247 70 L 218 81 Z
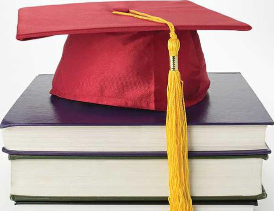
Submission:
M 83 103 L 49 94 L 53 75 L 38 75 L 1 122 L 3 129 L 17 126 L 163 126 L 166 113 Z M 189 126 L 267 126 L 274 122 L 241 73 L 209 73 L 206 98 L 187 109 Z M 165 151 L 84 152 L 33 151 L 3 148 L 10 155 L 60 156 L 166 156 Z M 256 150 L 190 151 L 189 156 L 269 154 Z

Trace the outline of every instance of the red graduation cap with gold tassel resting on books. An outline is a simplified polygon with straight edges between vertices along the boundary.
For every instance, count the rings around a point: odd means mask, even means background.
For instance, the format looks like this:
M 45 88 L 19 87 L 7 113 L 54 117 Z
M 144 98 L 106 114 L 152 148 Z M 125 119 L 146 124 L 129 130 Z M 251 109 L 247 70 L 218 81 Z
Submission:
M 192 211 L 185 108 L 210 86 L 197 33 L 210 29 L 251 26 L 187 0 L 93 2 L 21 8 L 16 38 L 68 34 L 53 95 L 167 111 L 170 210 Z

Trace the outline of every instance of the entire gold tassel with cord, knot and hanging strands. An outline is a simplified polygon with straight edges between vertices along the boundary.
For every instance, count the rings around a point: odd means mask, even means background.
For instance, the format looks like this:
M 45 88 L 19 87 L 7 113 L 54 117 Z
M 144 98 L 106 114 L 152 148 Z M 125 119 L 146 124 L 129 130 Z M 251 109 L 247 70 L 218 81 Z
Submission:
M 170 211 L 193 211 L 189 184 L 187 118 L 183 97 L 183 81 L 181 81 L 178 70 L 180 41 L 171 22 L 135 10 L 129 10 L 129 12 L 113 11 L 112 13 L 165 23 L 170 29 L 170 39 L 168 40 L 170 70 L 168 74 L 166 118 L 169 204 Z

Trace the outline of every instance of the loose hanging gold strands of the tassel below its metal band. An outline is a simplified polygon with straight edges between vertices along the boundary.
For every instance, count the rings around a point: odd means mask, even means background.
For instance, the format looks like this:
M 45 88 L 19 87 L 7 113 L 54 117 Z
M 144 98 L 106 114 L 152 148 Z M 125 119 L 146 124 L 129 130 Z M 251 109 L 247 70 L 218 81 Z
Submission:
M 166 119 L 170 211 L 193 211 L 188 169 L 187 121 L 179 70 L 168 75 Z

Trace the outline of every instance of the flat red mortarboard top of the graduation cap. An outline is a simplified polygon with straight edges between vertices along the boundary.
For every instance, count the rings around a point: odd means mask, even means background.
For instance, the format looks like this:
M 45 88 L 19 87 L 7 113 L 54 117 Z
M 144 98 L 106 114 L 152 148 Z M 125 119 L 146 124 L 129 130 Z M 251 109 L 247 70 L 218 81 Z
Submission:
M 56 34 L 168 30 L 166 25 L 114 15 L 134 9 L 171 21 L 177 30 L 250 30 L 251 26 L 191 1 L 112 1 L 21 8 L 17 39 Z

